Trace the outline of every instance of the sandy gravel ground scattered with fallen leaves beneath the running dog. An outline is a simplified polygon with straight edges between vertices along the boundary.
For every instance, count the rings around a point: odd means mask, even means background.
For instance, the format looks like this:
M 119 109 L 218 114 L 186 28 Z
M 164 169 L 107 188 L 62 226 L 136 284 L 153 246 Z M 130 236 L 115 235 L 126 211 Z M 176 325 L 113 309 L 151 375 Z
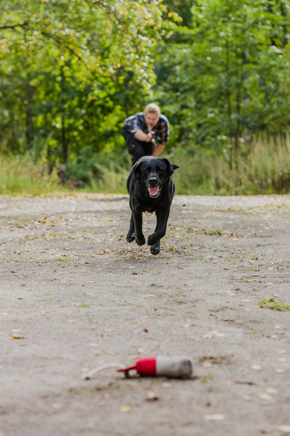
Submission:
M 0 435 L 290 434 L 289 208 L 176 196 L 153 256 L 127 196 L 0 197 Z M 82 378 L 161 354 L 193 377 Z

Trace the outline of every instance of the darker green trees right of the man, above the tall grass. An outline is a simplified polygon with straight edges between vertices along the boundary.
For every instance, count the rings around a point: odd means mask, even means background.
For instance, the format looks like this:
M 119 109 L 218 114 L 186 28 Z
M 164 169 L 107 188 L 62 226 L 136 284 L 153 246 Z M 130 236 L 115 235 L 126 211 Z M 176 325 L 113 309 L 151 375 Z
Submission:
M 289 131 L 290 3 L 191 6 L 190 28 L 177 26 L 157 48 L 155 95 L 167 108 L 177 147 L 230 144 L 225 157 L 234 161 L 254 133 Z

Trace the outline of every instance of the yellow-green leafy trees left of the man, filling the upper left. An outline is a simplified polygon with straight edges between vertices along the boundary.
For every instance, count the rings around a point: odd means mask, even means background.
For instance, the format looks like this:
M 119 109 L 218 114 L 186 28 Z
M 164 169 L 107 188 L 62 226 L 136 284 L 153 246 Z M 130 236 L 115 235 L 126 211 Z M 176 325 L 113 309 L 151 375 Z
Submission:
M 155 81 L 157 1 L 7 0 L 0 17 L 0 143 L 50 161 L 84 146 L 111 151 Z M 139 95 L 136 99 L 136 95 Z

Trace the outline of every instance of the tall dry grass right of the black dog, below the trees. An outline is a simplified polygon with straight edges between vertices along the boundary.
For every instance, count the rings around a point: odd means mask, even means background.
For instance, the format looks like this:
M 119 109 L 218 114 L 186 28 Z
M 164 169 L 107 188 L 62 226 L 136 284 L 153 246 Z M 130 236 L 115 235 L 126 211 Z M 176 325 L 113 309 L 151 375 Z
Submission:
M 245 147 L 244 147 L 245 148 Z M 228 150 L 227 150 L 228 151 Z M 240 195 L 290 192 L 290 139 L 259 137 L 230 168 L 225 153 L 199 150 L 172 155 L 177 194 Z

